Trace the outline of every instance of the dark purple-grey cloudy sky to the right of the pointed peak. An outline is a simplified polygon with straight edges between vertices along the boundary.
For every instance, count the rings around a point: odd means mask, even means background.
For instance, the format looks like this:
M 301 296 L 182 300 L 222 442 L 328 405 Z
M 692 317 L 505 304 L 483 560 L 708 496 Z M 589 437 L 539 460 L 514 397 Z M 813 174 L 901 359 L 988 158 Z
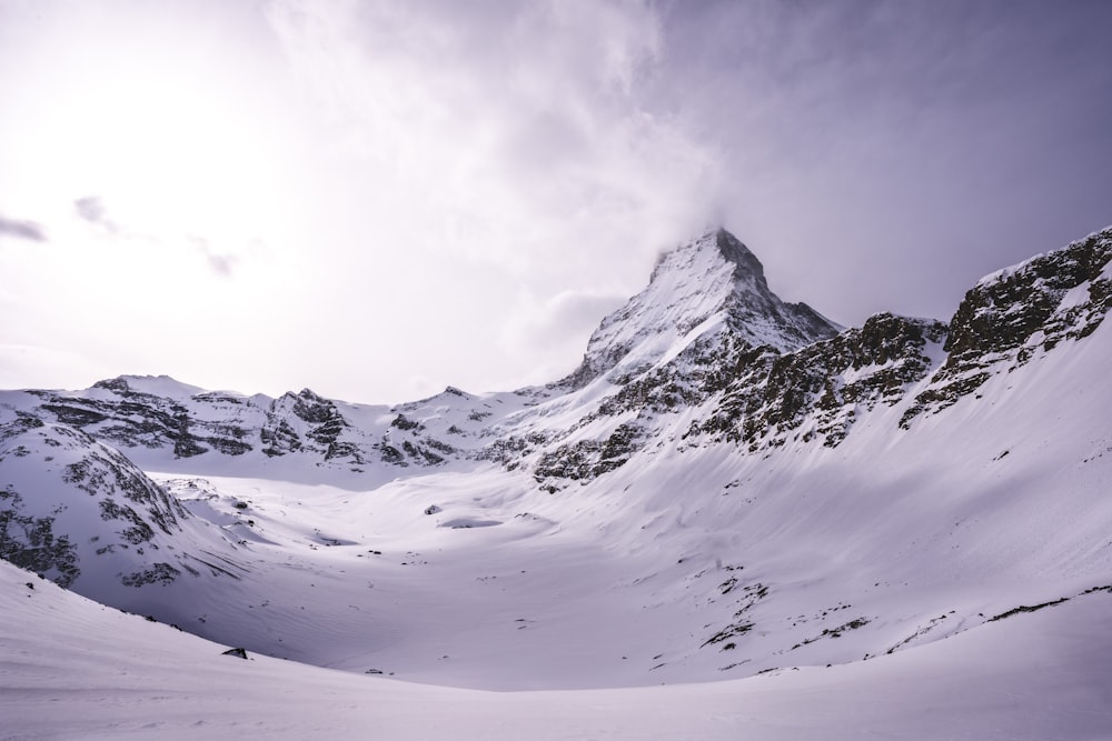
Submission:
M 784 298 L 945 318 L 993 266 L 1108 220 L 1112 6 L 663 8 L 653 106 L 716 143 L 724 221 Z

